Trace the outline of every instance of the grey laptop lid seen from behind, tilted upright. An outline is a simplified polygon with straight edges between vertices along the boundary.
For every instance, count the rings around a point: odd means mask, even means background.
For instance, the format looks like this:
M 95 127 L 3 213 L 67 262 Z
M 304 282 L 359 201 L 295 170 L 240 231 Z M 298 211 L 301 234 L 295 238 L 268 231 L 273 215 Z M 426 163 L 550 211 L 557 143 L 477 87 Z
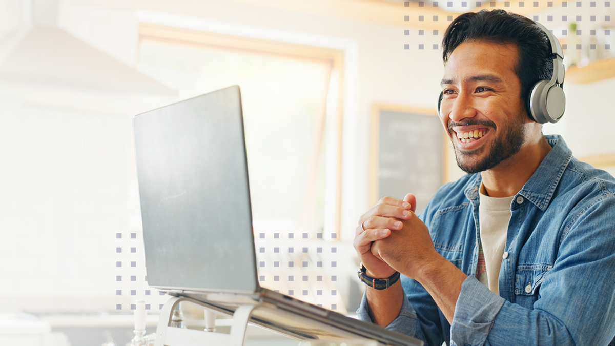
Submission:
M 137 115 L 133 127 L 148 284 L 257 292 L 239 86 Z

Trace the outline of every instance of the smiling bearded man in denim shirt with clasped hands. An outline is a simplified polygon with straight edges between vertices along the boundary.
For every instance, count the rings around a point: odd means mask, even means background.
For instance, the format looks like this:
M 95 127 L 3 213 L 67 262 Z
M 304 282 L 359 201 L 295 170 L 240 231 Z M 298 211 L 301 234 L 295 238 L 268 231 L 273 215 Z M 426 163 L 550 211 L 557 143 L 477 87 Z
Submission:
M 429 345 L 615 344 L 615 179 L 528 115 L 549 42 L 503 10 L 446 30 L 439 113 L 469 174 L 419 216 L 409 194 L 360 217 L 360 318 Z

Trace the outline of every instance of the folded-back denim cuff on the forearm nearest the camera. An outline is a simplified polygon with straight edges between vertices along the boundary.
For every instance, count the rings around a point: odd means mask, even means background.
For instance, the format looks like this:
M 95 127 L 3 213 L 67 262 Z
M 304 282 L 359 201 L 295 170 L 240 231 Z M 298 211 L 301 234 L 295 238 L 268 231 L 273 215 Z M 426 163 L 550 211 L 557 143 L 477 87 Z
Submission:
M 451 342 L 484 345 L 493 321 L 506 300 L 470 275 L 461 284 L 451 324 Z

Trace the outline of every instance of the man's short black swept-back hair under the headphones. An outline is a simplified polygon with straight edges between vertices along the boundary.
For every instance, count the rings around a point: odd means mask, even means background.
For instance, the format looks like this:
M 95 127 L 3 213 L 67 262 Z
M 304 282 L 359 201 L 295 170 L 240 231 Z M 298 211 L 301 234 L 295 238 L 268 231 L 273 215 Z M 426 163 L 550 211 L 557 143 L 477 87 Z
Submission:
M 531 88 L 553 74 L 553 52 L 547 34 L 532 20 L 505 10 L 480 10 L 459 15 L 446 28 L 442 39 L 442 59 L 448 61 L 462 42 L 514 43 L 519 49 L 515 73 L 521 83 L 521 97 L 530 114 Z

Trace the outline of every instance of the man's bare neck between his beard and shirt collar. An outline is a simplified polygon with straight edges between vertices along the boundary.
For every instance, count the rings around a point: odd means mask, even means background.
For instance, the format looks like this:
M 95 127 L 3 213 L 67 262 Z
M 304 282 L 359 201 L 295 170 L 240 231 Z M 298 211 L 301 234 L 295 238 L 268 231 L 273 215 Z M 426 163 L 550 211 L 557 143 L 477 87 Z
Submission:
M 498 166 L 481 172 L 488 196 L 501 198 L 516 195 L 550 150 L 549 142 L 541 134 L 536 140 L 526 142 L 518 153 Z

